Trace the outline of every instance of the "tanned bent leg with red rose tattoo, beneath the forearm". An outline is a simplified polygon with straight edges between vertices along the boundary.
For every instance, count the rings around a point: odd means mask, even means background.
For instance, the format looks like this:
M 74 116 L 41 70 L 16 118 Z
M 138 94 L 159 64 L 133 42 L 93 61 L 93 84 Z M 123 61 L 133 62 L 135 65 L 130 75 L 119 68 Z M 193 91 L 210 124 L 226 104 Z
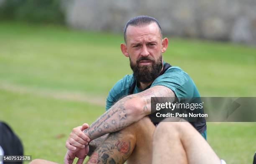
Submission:
M 90 156 L 87 164 L 113 163 L 148 164 L 152 160 L 155 126 L 148 117 L 109 135 Z

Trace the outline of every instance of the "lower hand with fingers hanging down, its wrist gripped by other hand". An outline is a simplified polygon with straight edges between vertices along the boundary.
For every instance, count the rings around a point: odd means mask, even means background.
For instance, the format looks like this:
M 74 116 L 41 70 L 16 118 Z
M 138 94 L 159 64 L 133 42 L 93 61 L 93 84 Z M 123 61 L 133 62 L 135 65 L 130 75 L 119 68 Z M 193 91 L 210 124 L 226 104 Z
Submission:
M 67 153 L 64 157 L 64 164 L 72 164 L 74 162 L 75 157 L 78 158 L 77 164 L 82 164 L 88 152 L 89 145 L 87 145 L 83 149 L 78 148 L 76 151 L 67 150 Z

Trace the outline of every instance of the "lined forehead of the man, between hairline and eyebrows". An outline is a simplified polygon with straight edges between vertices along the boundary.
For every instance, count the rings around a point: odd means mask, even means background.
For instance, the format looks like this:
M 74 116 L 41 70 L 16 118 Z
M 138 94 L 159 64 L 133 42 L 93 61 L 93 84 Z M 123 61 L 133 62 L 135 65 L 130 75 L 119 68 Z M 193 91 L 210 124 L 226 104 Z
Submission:
M 150 37 L 151 40 L 161 39 L 161 33 L 158 25 L 153 22 L 149 25 L 132 26 L 129 25 L 126 30 L 127 40 L 139 39 L 140 37 Z

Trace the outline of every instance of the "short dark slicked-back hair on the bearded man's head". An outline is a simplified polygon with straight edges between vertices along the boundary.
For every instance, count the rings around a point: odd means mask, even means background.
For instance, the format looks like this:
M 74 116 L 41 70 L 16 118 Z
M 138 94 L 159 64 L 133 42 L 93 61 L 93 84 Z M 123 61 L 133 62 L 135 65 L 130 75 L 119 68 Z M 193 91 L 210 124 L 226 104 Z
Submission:
M 129 25 L 131 25 L 131 26 L 143 26 L 143 25 L 149 25 L 153 22 L 155 22 L 157 24 L 157 26 L 159 27 L 160 34 L 162 36 L 162 28 L 161 28 L 160 23 L 158 22 L 158 20 L 156 20 L 156 18 L 149 17 L 149 16 L 146 16 L 146 15 L 140 15 L 140 16 L 132 18 L 131 20 L 129 20 L 125 24 L 125 27 L 124 27 L 124 30 L 123 30 L 123 39 L 124 39 L 125 43 L 126 43 L 126 30 L 127 30 L 127 27 Z

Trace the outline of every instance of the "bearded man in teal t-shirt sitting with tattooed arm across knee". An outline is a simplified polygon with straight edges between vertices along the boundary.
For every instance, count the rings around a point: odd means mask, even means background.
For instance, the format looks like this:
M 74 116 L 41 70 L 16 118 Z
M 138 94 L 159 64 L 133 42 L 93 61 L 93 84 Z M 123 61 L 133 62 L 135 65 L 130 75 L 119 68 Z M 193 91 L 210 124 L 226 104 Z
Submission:
M 90 155 L 87 163 L 116 164 L 127 161 L 128 164 L 150 164 L 153 160 L 153 149 L 155 149 L 154 136 L 159 137 L 159 134 L 160 136 L 165 134 L 168 138 L 171 136 L 170 132 L 171 134 L 181 133 L 181 131 L 175 133 L 175 129 L 184 129 L 179 128 L 178 124 L 162 124 L 169 130 L 164 133 L 164 128 L 160 128 L 161 130 L 157 130 L 158 134 L 153 135 L 158 128 L 158 122 L 153 123 L 148 117 L 151 114 L 151 97 L 177 97 L 178 99 L 200 97 L 195 83 L 186 72 L 180 67 L 164 62 L 162 53 L 168 47 L 168 39 L 162 38 L 161 26 L 155 18 L 138 16 L 129 20 L 124 28 L 124 41 L 125 43 L 120 45 L 121 51 L 125 57 L 129 57 L 133 74 L 125 75 L 113 86 L 106 100 L 106 112 L 90 127 L 84 124 L 73 129 L 66 143 L 68 151 L 64 158 L 65 163 L 72 163 L 75 157 L 78 158 L 77 163 L 82 163 L 86 155 Z M 198 134 L 201 137 L 194 146 L 207 152 L 206 149 L 201 149 L 204 148 L 203 145 L 207 145 L 205 120 L 184 125 L 186 125 L 184 127 L 194 127 L 192 135 Z M 186 134 L 185 132 L 182 134 Z M 197 134 L 194 135 L 194 133 Z M 171 147 L 177 150 L 176 154 L 178 153 L 178 155 L 172 153 L 172 159 L 177 157 L 179 163 L 188 163 L 186 154 L 192 154 L 192 152 L 186 152 L 184 148 L 191 144 L 184 144 L 181 140 L 190 142 L 195 139 L 183 139 L 179 138 L 179 135 L 174 135 L 174 139 L 171 138 L 173 143 L 168 145 L 166 141 L 166 148 Z M 177 143 L 174 144 L 174 142 Z M 163 143 L 160 144 L 163 145 Z M 182 151 L 178 151 L 176 146 Z M 161 147 L 157 149 L 157 152 L 159 151 Z M 216 155 L 212 156 L 219 160 Z M 154 161 L 157 163 L 156 158 Z M 165 163 L 168 162 L 165 161 Z

